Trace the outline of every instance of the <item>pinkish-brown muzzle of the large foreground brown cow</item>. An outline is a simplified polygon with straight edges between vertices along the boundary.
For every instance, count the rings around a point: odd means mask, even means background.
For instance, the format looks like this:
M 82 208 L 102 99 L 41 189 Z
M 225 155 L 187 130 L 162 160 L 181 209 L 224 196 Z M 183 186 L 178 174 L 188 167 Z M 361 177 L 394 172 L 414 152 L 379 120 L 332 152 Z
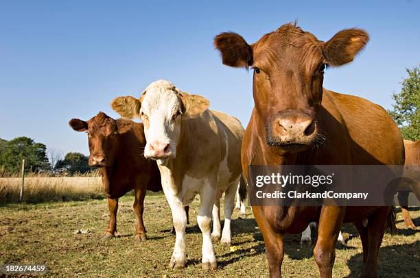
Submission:
M 315 119 L 301 112 L 279 114 L 272 121 L 267 143 L 283 151 L 303 151 L 315 140 L 318 127 Z

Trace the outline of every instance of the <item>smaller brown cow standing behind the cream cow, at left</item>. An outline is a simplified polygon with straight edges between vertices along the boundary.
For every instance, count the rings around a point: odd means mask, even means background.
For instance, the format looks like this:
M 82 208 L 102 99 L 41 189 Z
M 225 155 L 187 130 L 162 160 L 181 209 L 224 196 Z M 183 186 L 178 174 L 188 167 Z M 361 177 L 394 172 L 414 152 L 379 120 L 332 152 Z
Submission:
M 156 162 L 143 157 L 145 137 L 143 124 L 124 119 L 114 120 L 99 112 L 89 121 L 73 118 L 69 125 L 75 131 L 87 131 L 89 165 L 100 168 L 102 186 L 108 198 L 109 224 L 102 239 L 113 238 L 117 231 L 118 198 L 135 190 L 133 205 L 137 217 L 136 240 L 146 240 L 143 223 L 145 192 L 162 190 L 161 173 Z

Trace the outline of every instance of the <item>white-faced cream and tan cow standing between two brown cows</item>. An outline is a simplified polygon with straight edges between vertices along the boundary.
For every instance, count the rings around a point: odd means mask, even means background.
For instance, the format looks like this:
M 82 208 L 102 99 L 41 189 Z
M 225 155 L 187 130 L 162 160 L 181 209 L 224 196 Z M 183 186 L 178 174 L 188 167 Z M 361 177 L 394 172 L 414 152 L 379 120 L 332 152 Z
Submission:
M 144 156 L 158 162 L 176 231 L 170 268 L 183 268 L 187 262 L 187 217 L 183 207 L 196 194 L 200 194 L 197 222 L 202 231 L 202 268 L 217 268 L 211 238 L 220 238 L 220 197 L 224 192 L 225 220 L 220 242 L 231 244 L 231 215 L 242 173 L 244 128 L 240 121 L 209 110 L 207 99 L 182 92 L 164 80 L 150 84 L 140 99 L 118 97 L 111 106 L 124 118 L 139 117 L 144 123 Z

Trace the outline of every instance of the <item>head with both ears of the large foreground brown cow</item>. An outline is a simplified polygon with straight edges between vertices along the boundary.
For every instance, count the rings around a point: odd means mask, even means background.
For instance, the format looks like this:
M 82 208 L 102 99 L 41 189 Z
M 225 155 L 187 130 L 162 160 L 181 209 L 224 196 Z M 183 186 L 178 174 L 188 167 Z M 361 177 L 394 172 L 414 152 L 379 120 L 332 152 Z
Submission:
M 267 144 L 284 152 L 303 151 L 318 137 L 317 112 L 325 66 L 351 62 L 369 37 L 360 29 L 338 32 L 328 42 L 286 24 L 248 45 L 238 34 L 215 37 L 223 63 L 254 69 L 255 110 Z

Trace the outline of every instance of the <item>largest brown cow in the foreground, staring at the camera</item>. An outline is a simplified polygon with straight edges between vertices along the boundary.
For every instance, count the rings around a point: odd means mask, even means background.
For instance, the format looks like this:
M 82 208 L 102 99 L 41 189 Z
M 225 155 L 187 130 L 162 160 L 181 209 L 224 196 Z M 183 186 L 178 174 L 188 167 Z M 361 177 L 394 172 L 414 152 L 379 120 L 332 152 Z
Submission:
M 323 42 L 295 24 L 283 25 L 252 45 L 235 33 L 215 37 L 224 64 L 254 68 L 255 108 L 242 142 L 247 179 L 253 164 L 404 164 L 401 134 L 383 108 L 323 88 L 325 66 L 351 62 L 368 40 L 365 31 L 347 29 Z M 253 206 L 270 277 L 281 277 L 283 234 L 301 233 L 318 219 L 314 258 L 320 277 L 332 275 L 342 222 L 354 223 L 360 233 L 361 277 L 376 277 L 386 224 L 395 225 L 390 212 L 392 207 Z

